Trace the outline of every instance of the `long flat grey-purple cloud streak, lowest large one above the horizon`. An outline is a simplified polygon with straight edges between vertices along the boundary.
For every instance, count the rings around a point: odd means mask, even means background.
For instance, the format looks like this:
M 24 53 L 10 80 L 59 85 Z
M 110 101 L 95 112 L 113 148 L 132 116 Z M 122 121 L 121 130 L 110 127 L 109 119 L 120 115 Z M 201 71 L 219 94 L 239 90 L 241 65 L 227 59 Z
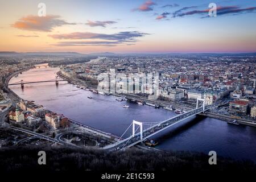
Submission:
M 117 46 L 117 44 L 138 42 L 137 38 L 148 35 L 139 31 L 124 31 L 116 34 L 93 32 L 72 32 L 69 34 L 48 35 L 53 39 L 86 39 L 87 41 L 59 42 L 55 46 Z M 89 41 L 88 41 L 89 40 Z

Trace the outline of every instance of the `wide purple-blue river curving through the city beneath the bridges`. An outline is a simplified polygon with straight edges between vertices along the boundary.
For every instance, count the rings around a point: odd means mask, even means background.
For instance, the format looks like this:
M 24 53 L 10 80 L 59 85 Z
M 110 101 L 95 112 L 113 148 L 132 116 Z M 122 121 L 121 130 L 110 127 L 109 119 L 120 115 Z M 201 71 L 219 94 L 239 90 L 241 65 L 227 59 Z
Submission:
M 35 68 L 13 77 L 10 83 L 20 80 L 52 80 L 59 68 Z M 85 123 L 102 131 L 121 136 L 135 119 L 141 122 L 158 122 L 176 115 L 163 108 L 155 109 L 115 100 L 114 96 L 103 96 L 76 88 L 67 82 L 44 82 L 38 84 L 12 85 L 10 88 L 24 100 L 32 100 L 51 111 Z M 93 97 L 89 99 L 88 96 Z M 122 105 L 130 105 L 123 108 Z M 131 134 L 131 130 L 129 130 Z M 127 137 L 127 134 L 126 134 Z M 170 151 L 196 151 L 233 159 L 250 159 L 256 162 L 256 128 L 228 125 L 213 118 L 193 117 L 174 125 L 154 137 L 159 142 L 156 148 Z

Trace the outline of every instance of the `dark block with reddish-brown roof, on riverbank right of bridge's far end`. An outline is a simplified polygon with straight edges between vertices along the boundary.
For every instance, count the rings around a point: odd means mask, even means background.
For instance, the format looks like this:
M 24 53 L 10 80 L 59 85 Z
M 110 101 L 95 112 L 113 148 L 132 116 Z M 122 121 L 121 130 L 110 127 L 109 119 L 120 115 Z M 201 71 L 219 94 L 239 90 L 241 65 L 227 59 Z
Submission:
M 229 102 L 229 113 L 234 115 L 243 115 L 247 114 L 249 106 L 248 100 L 234 100 Z

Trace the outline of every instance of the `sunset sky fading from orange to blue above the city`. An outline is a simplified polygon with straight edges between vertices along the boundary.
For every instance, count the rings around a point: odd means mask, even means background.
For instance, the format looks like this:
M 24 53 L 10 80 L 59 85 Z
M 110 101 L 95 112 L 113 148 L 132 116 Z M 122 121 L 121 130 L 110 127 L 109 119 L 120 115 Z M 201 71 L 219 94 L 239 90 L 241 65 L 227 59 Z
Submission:
M 216 16 L 209 16 L 210 3 Z M 0 51 L 256 52 L 252 0 L 0 0 L 0 5 Z

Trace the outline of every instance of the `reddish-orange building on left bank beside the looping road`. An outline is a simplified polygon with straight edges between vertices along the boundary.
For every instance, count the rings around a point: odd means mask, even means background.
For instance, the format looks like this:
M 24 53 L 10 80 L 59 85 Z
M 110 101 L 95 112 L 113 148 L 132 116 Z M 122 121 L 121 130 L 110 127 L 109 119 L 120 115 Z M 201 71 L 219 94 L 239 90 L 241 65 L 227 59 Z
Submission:
M 51 125 L 54 129 L 59 129 L 60 127 L 69 127 L 68 118 L 64 117 L 62 114 L 57 113 L 47 113 L 46 121 Z

